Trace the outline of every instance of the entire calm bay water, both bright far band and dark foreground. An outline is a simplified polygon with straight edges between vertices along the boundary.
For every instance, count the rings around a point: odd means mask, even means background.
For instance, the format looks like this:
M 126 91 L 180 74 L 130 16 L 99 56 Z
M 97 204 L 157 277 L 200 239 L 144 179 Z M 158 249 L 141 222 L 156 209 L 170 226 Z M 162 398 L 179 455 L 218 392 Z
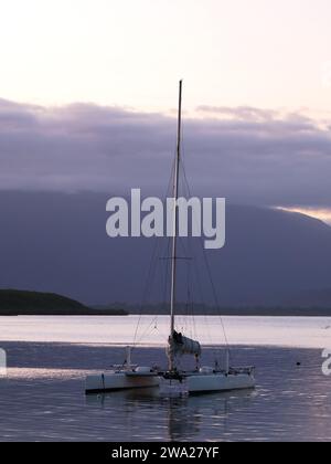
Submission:
M 136 318 L 103 319 L 0 318 L 9 363 L 8 378 L 0 379 L 1 441 L 331 441 L 331 378 L 321 372 L 330 320 L 226 318 L 231 342 L 255 340 L 234 347 L 233 356 L 235 363 L 257 367 L 256 391 L 178 400 L 149 391 L 85 398 L 87 372 L 124 360 L 122 348 L 107 344 L 132 339 Z M 156 344 L 154 331 L 163 329 L 163 318 L 151 328 L 142 321 L 146 342 Z M 217 335 L 209 331 L 209 338 Z M 273 346 L 264 346 L 265 333 Z M 156 347 L 135 357 L 164 361 Z M 205 363 L 212 359 L 206 349 Z

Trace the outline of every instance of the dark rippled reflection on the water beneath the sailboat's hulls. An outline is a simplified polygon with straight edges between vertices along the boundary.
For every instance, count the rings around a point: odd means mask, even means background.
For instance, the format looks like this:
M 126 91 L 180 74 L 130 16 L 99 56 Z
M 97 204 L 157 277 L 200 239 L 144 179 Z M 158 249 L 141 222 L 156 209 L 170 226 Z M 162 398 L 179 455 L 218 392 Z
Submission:
M 229 414 L 248 408 L 256 394 L 253 390 L 242 390 L 184 398 L 162 398 L 158 389 L 127 390 L 87 396 L 86 405 L 109 411 L 109 414 L 114 414 L 115 410 L 120 410 L 121 420 L 127 429 L 135 423 L 132 413 L 141 414 L 143 407 L 145 410 L 153 411 L 153 414 L 159 411 L 158 420 L 160 415 L 164 416 L 166 430 L 162 431 L 162 440 L 169 441 L 199 440 L 205 430 L 205 422 L 210 422 L 207 426 L 217 429 L 217 437 L 221 441 L 228 434 Z M 148 413 L 141 415 L 140 419 L 143 421 L 143 428 L 147 426 L 148 420 L 154 423 L 153 415 Z M 154 440 L 157 439 L 154 436 Z

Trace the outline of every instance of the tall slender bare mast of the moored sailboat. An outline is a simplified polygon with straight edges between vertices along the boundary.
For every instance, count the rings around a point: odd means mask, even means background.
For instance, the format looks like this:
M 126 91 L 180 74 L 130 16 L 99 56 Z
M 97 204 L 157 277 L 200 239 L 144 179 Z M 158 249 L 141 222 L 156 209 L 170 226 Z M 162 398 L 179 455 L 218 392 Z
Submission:
M 170 337 L 174 334 L 174 305 L 175 305 L 175 277 L 177 277 L 177 239 L 178 239 L 178 197 L 179 197 L 179 170 L 181 158 L 181 130 L 182 130 L 182 86 L 183 81 L 179 83 L 179 110 L 178 110 L 178 133 L 177 133 L 177 156 L 173 176 L 173 236 L 171 254 L 171 299 L 170 299 Z M 169 370 L 174 370 L 174 355 L 170 350 Z

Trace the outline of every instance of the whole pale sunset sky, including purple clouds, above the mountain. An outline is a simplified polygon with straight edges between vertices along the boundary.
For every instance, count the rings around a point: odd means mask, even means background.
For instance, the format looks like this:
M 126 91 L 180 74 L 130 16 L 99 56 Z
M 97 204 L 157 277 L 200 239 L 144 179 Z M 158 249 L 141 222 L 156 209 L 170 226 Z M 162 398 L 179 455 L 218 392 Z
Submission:
M 330 0 L 0 0 L 0 188 L 103 186 L 96 168 L 90 177 L 84 171 L 86 157 L 100 156 L 104 175 L 107 166 L 119 167 L 117 154 L 104 162 L 98 149 L 107 140 L 97 130 L 94 151 L 82 155 L 81 171 L 71 170 L 73 154 L 85 146 L 77 140 L 79 125 L 118 127 L 121 117 L 124 127 L 130 119 L 131 129 L 139 119 L 140 130 L 149 117 L 148 127 L 156 125 L 160 133 L 159 152 L 171 152 L 177 83 L 184 78 L 188 145 L 193 146 L 190 128 L 195 137 L 201 127 L 200 148 L 205 140 L 207 157 L 221 159 L 224 182 L 228 168 L 231 187 L 238 187 L 236 201 L 259 197 L 263 202 L 265 188 L 267 204 L 309 208 L 325 219 L 331 207 L 330 21 Z M 84 109 L 76 105 L 82 103 Z M 58 152 L 54 137 L 61 120 L 70 124 Z M 164 145 L 162 127 L 169 131 Z M 124 146 L 127 141 L 124 137 Z M 139 149 L 146 151 L 148 143 L 147 130 Z M 136 157 L 135 146 L 130 140 L 121 149 Z M 246 173 L 233 156 L 243 159 Z M 36 181 L 33 167 L 44 181 Z M 275 193 L 277 186 L 281 194 Z

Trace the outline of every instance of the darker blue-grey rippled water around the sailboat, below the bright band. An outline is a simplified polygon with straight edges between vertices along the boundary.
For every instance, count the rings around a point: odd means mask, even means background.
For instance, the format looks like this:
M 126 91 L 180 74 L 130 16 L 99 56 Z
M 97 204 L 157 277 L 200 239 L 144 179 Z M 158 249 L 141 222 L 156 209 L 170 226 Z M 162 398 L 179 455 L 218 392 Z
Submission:
M 9 365 L 0 379 L 1 441 L 331 441 L 331 378 L 319 349 L 234 347 L 235 363 L 257 367 L 255 391 L 170 400 L 147 390 L 85 397 L 85 375 L 121 362 L 122 348 L 0 346 Z M 164 361 L 159 348 L 134 356 Z M 205 362 L 213 356 L 205 350 Z

